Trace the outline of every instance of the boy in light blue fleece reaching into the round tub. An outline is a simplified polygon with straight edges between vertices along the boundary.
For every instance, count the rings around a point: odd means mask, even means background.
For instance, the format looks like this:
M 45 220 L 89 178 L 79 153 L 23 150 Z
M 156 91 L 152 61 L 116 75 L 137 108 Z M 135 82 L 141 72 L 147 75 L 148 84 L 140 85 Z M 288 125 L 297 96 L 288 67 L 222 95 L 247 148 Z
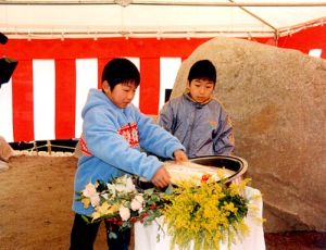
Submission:
M 75 191 L 80 191 L 91 182 L 108 182 L 124 174 L 136 174 L 151 180 L 156 187 L 170 184 L 170 175 L 156 157 L 147 155 L 140 147 L 155 155 L 187 161 L 184 146 L 177 138 L 152 123 L 131 104 L 140 83 L 137 67 L 127 59 L 113 59 L 102 73 L 102 90 L 91 89 L 83 109 L 83 155 L 75 175 Z M 92 213 L 75 199 L 74 225 L 71 234 L 71 250 L 90 250 L 96 240 L 100 223 L 87 224 L 82 215 Z M 106 235 L 110 250 L 127 250 L 130 230 L 118 232 L 105 222 L 108 229 L 114 230 L 116 239 Z

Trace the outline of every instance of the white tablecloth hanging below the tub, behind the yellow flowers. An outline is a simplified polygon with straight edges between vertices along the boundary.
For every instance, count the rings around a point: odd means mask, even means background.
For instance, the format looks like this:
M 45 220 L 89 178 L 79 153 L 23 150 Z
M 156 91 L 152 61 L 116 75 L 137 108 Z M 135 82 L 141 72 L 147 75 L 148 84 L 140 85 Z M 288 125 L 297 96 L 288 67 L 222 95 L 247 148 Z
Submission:
M 246 187 L 244 196 L 250 198 L 251 196 L 261 195 L 261 191 L 251 187 Z M 254 199 L 251 201 L 258 211 L 251 211 L 252 207 L 249 207 L 248 215 L 244 218 L 250 232 L 247 237 L 240 242 L 231 245 L 231 250 L 265 250 L 265 238 L 262 223 L 256 217 L 262 217 L 263 213 L 263 200 Z M 158 223 L 162 223 L 163 217 L 156 220 Z M 164 229 L 164 227 L 163 227 Z M 166 228 L 165 230 L 166 232 Z M 160 234 L 160 241 L 158 241 L 158 234 Z M 163 234 L 159 230 L 159 225 L 152 223 L 151 225 L 143 226 L 141 223 L 135 224 L 135 250 L 168 250 L 171 242 L 171 236 Z M 176 247 L 174 250 L 177 250 Z M 227 250 L 227 242 L 220 245 L 221 250 Z

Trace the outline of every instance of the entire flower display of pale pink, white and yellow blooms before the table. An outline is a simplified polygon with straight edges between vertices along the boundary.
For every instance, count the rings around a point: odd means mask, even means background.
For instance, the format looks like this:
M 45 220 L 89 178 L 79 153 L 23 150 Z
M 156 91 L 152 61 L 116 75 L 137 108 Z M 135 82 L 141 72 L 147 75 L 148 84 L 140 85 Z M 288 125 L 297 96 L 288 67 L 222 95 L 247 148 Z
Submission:
M 89 183 L 77 198 L 93 212 L 85 216 L 89 223 L 109 220 L 121 229 L 130 228 L 136 222 L 145 225 L 163 216 L 172 246 L 180 250 L 220 249 L 220 242 L 230 245 L 249 232 L 243 221 L 249 200 L 243 198 L 244 187 L 250 179 L 239 184 L 215 182 L 210 175 L 178 183 L 164 192 L 155 189 L 137 189 L 130 176 L 124 175 L 111 183 Z M 159 226 L 159 229 L 163 227 Z M 113 236 L 114 237 L 114 234 Z

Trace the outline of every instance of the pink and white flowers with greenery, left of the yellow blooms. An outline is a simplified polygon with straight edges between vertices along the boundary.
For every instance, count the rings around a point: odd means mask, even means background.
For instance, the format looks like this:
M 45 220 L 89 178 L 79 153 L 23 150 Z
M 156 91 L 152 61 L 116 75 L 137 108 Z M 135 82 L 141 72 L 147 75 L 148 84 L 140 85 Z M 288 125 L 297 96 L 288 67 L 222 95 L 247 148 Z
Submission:
M 124 175 L 111 183 L 97 180 L 87 184 L 85 189 L 77 191 L 85 209 L 90 205 L 93 212 L 84 216 L 88 223 L 108 220 L 120 225 L 120 229 L 130 228 L 140 221 L 145 225 L 162 215 L 163 200 L 155 188 L 137 190 L 133 178 Z M 113 234 L 112 237 L 115 237 Z

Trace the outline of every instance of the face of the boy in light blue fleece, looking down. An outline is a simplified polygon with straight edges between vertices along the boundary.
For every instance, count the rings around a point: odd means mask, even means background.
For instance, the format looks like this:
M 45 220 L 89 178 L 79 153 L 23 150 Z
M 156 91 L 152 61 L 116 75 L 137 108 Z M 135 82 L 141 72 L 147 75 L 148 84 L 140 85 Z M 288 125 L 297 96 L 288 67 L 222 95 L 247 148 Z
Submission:
M 105 96 L 120 109 L 125 109 L 133 101 L 137 89 L 134 82 L 117 84 L 113 90 L 108 82 L 102 87 Z

